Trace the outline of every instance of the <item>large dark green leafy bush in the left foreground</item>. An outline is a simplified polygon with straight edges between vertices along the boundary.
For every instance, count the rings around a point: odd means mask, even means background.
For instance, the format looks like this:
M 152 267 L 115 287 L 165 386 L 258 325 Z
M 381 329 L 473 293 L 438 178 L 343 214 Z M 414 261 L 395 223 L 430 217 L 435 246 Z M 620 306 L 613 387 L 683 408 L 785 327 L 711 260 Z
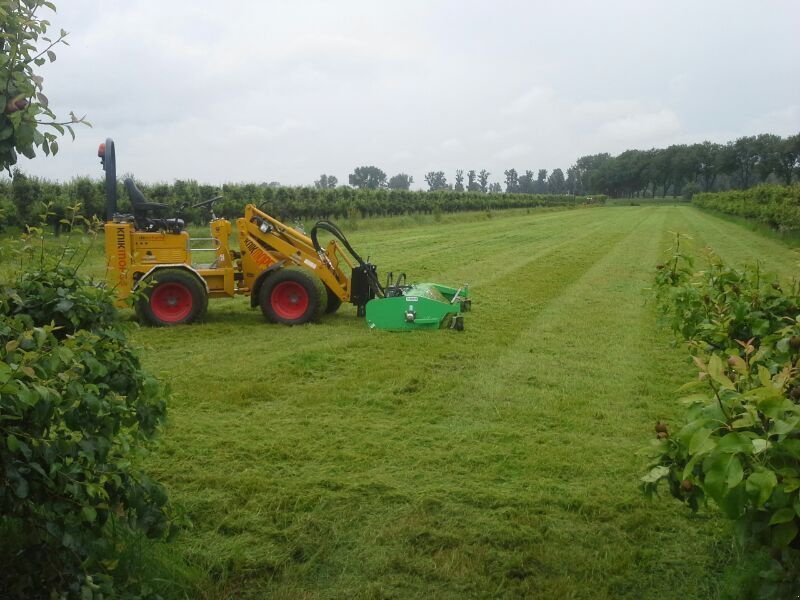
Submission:
M 170 528 L 164 488 L 137 467 L 165 389 L 142 369 L 111 291 L 41 248 L 0 286 L 0 589 L 146 596 L 119 558 L 137 535 Z M 28 240 L 22 254 L 35 249 Z

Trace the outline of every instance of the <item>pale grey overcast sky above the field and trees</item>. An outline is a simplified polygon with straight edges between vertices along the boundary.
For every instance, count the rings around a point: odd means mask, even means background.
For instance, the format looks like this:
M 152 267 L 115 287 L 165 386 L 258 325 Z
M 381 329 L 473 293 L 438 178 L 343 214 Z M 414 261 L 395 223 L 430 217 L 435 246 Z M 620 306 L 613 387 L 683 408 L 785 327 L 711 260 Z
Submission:
M 50 179 L 340 183 L 566 169 L 585 154 L 800 131 L 800 2 L 56 0 L 42 68 L 87 115 Z M 45 11 L 46 13 L 47 11 Z M 43 13 L 43 14 L 45 14 Z

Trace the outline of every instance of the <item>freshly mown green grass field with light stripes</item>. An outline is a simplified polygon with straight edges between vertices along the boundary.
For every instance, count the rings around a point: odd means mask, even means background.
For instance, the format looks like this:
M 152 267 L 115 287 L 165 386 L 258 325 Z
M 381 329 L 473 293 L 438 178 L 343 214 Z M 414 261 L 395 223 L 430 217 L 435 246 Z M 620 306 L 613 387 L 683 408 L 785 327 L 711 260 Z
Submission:
M 174 392 L 147 468 L 192 523 L 157 548 L 175 594 L 746 594 L 714 511 L 638 491 L 693 373 L 644 290 L 673 231 L 786 277 L 797 254 L 691 206 L 394 225 L 346 233 L 383 273 L 469 282 L 465 332 L 370 331 L 350 306 L 269 325 L 244 298 L 135 332 Z

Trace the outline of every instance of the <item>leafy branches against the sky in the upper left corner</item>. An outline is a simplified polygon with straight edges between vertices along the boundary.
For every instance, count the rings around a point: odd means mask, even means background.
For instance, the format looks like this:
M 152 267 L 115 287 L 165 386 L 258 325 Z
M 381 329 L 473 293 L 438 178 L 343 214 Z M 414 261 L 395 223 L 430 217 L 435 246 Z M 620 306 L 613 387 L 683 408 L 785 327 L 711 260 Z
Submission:
M 35 68 L 56 60 L 53 48 L 66 45 L 67 32 L 47 37 L 50 22 L 39 15 L 42 9 L 56 8 L 47 0 L 0 0 L 0 169 L 16 164 L 17 153 L 34 158 L 41 148 L 55 154 L 59 136 L 69 131 L 74 138 L 72 125 L 88 124 L 72 113 L 68 122 L 56 122 L 49 108 Z

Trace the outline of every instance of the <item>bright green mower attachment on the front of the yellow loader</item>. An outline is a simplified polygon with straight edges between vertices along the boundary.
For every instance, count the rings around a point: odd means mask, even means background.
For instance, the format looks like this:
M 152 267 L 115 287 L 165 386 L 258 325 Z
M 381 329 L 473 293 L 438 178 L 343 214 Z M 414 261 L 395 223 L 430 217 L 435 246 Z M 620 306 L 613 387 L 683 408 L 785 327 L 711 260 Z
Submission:
M 455 329 L 463 331 L 464 315 L 470 310 L 469 286 L 447 287 L 437 283 L 401 285 L 398 281 L 384 288 L 384 297 L 367 302 L 367 325 L 371 329 L 412 331 L 414 329 Z

